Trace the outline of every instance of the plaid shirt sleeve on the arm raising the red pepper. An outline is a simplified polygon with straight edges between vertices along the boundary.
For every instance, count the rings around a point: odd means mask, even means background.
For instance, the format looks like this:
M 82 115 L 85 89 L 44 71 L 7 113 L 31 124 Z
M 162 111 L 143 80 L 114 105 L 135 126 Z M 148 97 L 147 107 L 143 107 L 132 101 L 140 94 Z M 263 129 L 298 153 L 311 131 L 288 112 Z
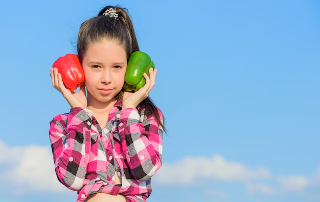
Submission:
M 59 181 L 72 190 L 80 190 L 84 184 L 92 115 L 88 109 L 75 107 L 68 115 L 58 115 L 50 122 L 56 174 Z

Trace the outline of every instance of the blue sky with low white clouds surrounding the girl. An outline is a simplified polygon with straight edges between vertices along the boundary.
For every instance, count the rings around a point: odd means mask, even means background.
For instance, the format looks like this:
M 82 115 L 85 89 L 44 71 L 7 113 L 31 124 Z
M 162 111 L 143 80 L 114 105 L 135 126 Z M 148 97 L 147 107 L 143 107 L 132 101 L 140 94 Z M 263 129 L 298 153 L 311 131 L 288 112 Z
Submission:
M 49 122 L 69 106 L 49 73 L 109 4 L 158 69 L 150 96 L 169 133 L 149 202 L 320 201 L 316 0 L 3 2 L 3 200 L 75 201 L 54 173 Z

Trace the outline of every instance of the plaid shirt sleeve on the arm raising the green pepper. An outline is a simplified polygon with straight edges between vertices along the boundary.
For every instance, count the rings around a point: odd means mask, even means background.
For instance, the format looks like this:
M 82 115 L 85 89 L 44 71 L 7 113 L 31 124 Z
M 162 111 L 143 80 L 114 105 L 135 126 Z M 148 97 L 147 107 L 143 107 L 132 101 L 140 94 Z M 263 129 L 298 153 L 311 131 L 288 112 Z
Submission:
M 128 169 L 136 180 L 147 181 L 162 165 L 163 128 L 152 114 L 142 117 L 134 108 L 116 113 Z

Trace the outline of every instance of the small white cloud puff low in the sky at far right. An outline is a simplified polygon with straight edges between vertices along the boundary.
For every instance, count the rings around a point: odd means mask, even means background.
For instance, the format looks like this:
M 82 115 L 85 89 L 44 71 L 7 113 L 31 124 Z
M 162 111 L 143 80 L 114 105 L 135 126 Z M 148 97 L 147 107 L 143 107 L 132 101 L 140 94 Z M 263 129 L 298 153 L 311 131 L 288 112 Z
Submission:
M 309 180 L 304 176 L 280 176 L 278 180 L 284 191 L 303 191 L 309 185 Z

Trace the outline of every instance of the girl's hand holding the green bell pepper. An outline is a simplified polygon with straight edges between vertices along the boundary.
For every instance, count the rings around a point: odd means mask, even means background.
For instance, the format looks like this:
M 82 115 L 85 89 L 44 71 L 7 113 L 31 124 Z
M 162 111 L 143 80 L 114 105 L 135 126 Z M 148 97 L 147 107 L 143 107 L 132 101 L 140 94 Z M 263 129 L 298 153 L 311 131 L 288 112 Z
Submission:
M 146 79 L 146 84 L 139 89 L 139 91 L 132 93 L 125 91 L 123 93 L 122 99 L 122 108 L 136 108 L 140 102 L 146 99 L 149 96 L 149 92 L 155 85 L 155 76 L 157 73 L 157 69 L 149 69 L 149 77 L 146 73 L 143 76 Z

